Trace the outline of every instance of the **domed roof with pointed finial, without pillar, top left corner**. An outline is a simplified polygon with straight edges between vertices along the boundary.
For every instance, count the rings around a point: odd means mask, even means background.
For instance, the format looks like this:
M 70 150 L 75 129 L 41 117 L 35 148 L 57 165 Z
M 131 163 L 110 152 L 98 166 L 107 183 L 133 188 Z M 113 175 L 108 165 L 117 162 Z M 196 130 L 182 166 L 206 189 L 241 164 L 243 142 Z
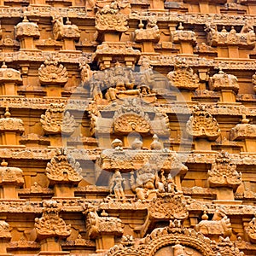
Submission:
M 16 38 L 39 38 L 40 32 L 38 24 L 30 22 L 26 16 L 17 26 L 15 26 Z

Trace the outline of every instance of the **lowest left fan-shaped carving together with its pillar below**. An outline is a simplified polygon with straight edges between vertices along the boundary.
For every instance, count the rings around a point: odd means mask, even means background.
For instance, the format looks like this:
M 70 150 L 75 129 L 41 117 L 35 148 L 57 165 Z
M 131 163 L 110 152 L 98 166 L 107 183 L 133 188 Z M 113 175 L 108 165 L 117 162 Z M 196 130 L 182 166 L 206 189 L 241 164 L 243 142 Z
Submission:
M 41 243 L 38 255 L 68 255 L 61 251 L 61 239 L 70 236 L 70 225 L 60 218 L 61 204 L 57 201 L 43 201 L 43 215 L 35 218 L 37 240 Z

